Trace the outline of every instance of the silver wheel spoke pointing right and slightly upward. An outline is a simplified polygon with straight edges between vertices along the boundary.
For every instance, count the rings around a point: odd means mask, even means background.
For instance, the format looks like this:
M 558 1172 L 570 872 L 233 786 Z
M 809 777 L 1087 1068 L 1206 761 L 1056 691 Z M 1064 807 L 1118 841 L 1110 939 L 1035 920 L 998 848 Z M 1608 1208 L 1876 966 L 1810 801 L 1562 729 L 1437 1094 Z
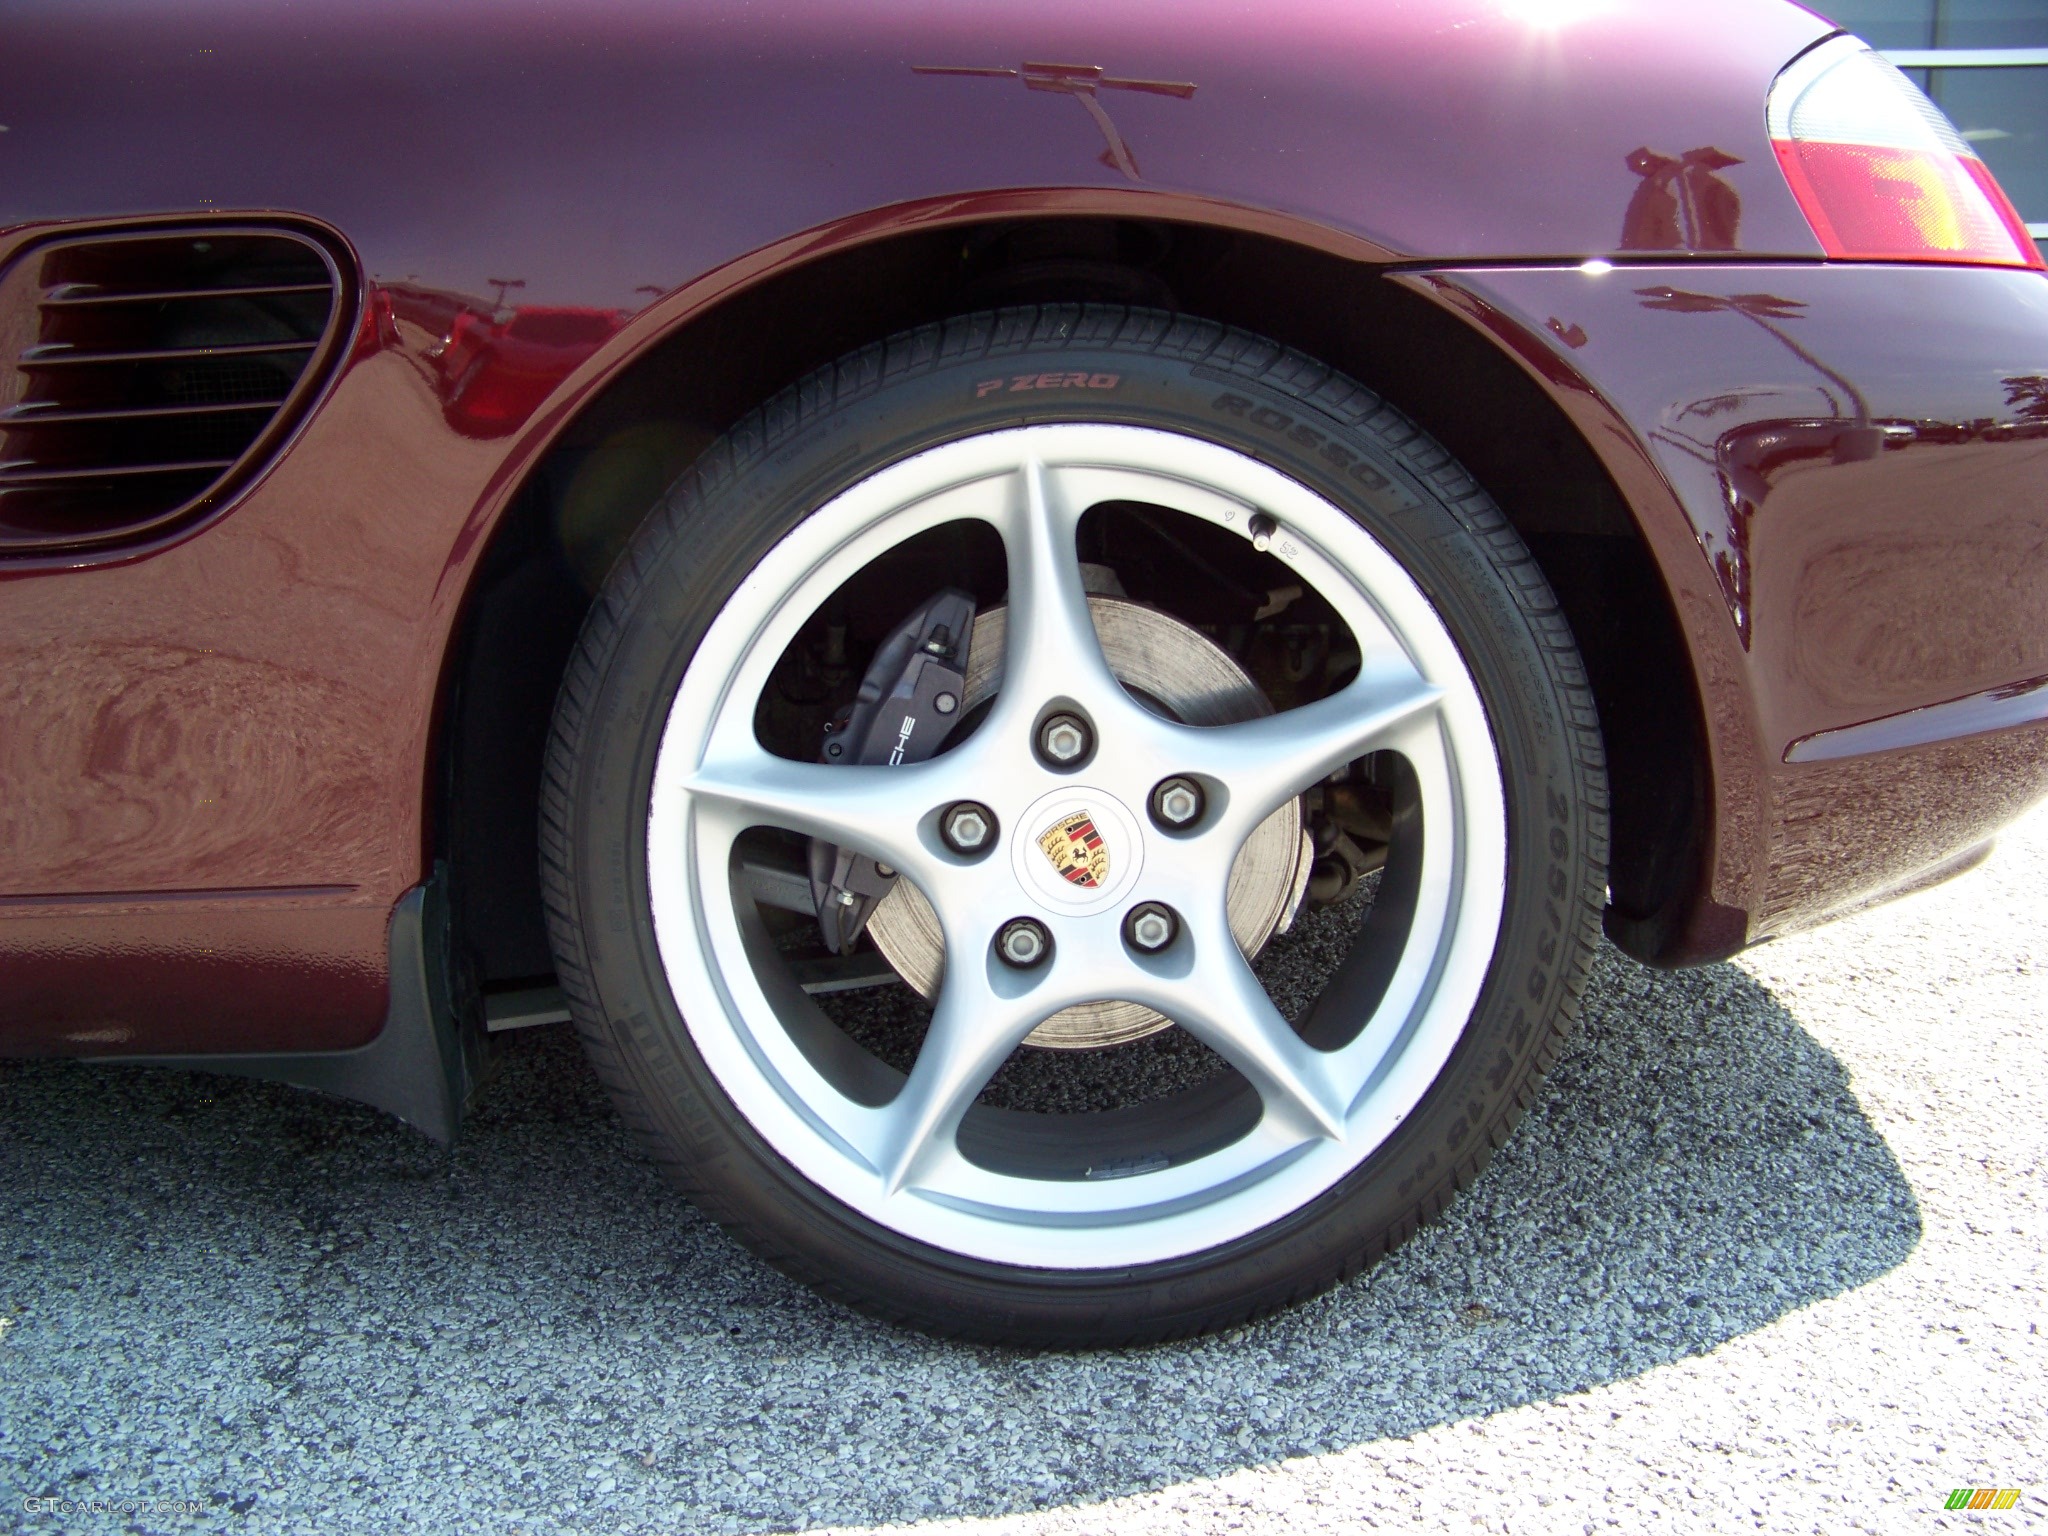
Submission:
M 1325 774 L 1413 731 L 1442 696 L 1403 659 L 1372 666 L 1329 698 L 1280 715 L 1165 729 L 1182 737 L 1188 762 L 1200 762 L 1229 786 L 1231 831 L 1241 840 Z

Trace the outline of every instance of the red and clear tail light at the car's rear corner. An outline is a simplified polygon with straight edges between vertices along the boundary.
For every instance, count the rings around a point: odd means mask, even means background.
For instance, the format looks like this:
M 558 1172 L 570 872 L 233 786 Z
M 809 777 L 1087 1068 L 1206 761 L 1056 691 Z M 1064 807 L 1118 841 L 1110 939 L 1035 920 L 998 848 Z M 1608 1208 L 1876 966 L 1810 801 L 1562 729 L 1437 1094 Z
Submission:
M 1989 166 L 1927 96 L 1853 37 L 1772 86 L 1772 147 L 1829 256 L 2042 266 Z

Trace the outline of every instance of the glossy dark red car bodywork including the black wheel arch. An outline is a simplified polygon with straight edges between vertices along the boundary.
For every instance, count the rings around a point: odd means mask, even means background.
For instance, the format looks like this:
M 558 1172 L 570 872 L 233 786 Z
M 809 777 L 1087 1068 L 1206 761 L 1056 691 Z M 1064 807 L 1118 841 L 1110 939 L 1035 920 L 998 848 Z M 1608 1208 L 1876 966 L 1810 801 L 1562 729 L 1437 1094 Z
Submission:
M 1286 291 L 1223 317 L 1491 469 L 1606 678 L 1634 954 L 1966 854 L 2048 791 L 2048 276 L 1823 260 L 1763 119 L 1817 16 L 1552 10 L 12 8 L 0 264 L 287 221 L 346 252 L 352 340 L 205 516 L 0 559 L 0 1051 L 350 1087 L 289 1063 L 420 975 L 444 1010 L 393 913 L 465 836 L 451 754 L 496 750 L 459 684 L 522 498 L 621 399 L 717 430 L 922 315 L 989 231 L 1167 231 L 1180 301 Z M 1587 537 L 1649 612 L 1606 639 Z

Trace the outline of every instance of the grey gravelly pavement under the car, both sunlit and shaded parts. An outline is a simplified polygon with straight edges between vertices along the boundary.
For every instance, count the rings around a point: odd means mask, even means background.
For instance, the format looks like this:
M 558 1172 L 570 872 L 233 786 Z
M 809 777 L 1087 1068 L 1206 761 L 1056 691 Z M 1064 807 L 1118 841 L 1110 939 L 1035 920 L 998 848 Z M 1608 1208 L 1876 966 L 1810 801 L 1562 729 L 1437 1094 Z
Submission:
M 453 1153 L 262 1083 L 0 1063 L 0 1528 L 2044 1524 L 2044 891 L 2038 813 L 1735 965 L 1606 954 L 1444 1223 L 1126 1354 L 815 1300 L 627 1151 L 563 1030 L 510 1040 Z M 1958 1485 L 2025 1497 L 1939 1513 Z

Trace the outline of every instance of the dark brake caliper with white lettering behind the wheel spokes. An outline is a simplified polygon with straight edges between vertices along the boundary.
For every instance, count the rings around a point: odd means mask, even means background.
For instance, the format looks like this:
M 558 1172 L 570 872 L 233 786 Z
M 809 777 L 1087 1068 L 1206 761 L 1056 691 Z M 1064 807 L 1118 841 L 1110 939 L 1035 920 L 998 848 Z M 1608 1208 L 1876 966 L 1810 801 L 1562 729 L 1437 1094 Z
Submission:
M 975 600 L 946 588 L 897 625 L 868 664 L 852 707 L 825 725 L 821 762 L 924 762 L 961 719 Z M 895 870 L 866 854 L 811 840 L 811 895 L 825 946 L 848 954 L 889 895 Z

